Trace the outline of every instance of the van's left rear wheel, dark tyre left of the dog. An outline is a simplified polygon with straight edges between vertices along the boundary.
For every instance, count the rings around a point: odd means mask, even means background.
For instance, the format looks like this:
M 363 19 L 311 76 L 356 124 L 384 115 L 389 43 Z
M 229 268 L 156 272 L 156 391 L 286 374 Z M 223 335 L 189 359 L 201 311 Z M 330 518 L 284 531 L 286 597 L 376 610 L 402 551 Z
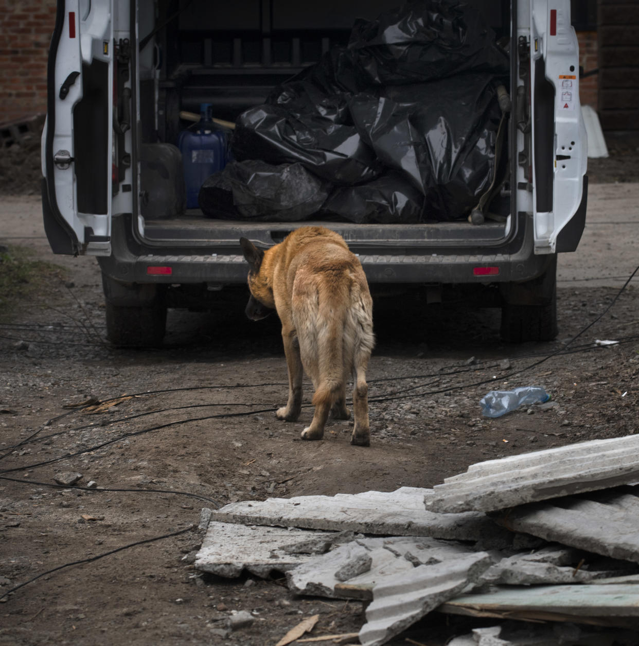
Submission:
M 158 348 L 167 329 L 167 307 L 161 302 L 146 306 L 118 306 L 108 300 L 107 339 L 125 348 Z

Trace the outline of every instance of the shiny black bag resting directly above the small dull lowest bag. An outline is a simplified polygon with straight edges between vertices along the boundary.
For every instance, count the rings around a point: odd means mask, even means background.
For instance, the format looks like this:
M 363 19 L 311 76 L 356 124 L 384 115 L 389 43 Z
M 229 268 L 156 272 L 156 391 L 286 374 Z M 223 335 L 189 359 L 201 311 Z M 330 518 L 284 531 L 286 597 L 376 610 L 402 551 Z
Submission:
M 241 114 L 232 141 L 234 157 L 299 162 L 324 180 L 343 185 L 369 182 L 380 174 L 378 161 L 355 127 L 339 122 L 340 114 L 348 112 L 345 99 L 325 97 L 310 106 L 314 109 L 296 112 L 301 101 L 286 107 L 260 105 Z

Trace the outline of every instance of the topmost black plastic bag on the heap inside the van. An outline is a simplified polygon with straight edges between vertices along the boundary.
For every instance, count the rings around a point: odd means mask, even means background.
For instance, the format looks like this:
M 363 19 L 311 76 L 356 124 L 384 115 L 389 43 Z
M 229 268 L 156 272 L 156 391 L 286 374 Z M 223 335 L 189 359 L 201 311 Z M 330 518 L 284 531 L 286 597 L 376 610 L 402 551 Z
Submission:
M 461 72 L 507 74 L 507 54 L 475 8 L 456 0 L 419 0 L 358 19 L 348 52 L 349 77 L 367 76 L 374 85 L 403 85 Z

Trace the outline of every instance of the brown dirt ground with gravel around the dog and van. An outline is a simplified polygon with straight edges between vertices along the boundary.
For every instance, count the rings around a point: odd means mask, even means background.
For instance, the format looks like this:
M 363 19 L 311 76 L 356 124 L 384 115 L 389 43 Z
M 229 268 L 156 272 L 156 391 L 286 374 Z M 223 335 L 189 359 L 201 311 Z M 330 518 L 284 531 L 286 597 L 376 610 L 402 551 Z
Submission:
M 636 178 L 636 152 L 632 172 L 613 154 L 594 163 L 592 178 L 614 182 L 620 168 Z M 0 644 L 274 645 L 312 614 L 313 635 L 356 632 L 359 602 L 295 598 L 276 577 L 201 576 L 192 566 L 201 508 L 431 487 L 486 459 L 638 432 L 636 280 L 614 299 L 638 256 L 624 245 L 636 240 L 639 185 L 625 185 L 625 202 L 613 206 L 617 187 L 591 185 L 600 220 L 567 269 L 560 260 L 553 342 L 502 344 L 496 310 L 426 307 L 415 294 L 376 299 L 370 448 L 350 446 L 352 422 L 330 422 L 323 441 L 299 441 L 309 406 L 299 422 L 274 418 L 286 395 L 278 322 L 245 320 L 243 291 L 217 312 L 171 311 L 162 349 L 110 348 L 95 260 L 53 256 L 37 196 L 6 197 L 0 244 L 31 247 L 65 272 L 0 313 L 0 472 L 19 480 L 0 480 L 0 594 L 66 563 L 184 532 L 62 568 L 1 599 Z M 616 233 L 604 243 L 596 224 Z M 544 386 L 553 405 L 482 417 L 488 390 L 528 384 Z M 92 398 L 114 405 L 68 408 Z M 51 488 L 60 472 L 104 489 Z M 234 610 L 255 621 L 225 636 Z M 440 645 L 492 623 L 433 613 L 391 644 Z

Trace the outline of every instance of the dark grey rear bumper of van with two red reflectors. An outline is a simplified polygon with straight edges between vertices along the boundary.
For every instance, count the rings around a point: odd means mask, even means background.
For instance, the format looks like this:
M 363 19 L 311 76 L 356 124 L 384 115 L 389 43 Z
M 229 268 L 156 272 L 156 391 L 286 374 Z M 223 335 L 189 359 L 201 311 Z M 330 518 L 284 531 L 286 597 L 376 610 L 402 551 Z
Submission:
M 532 253 L 532 216 L 520 213 L 519 217 L 518 233 L 509 242 L 489 249 L 398 240 L 396 231 L 389 226 L 379 227 L 387 234 L 383 238 L 380 233 L 376 242 L 370 237 L 365 242 L 345 238 L 360 258 L 370 283 L 523 282 L 542 275 L 554 256 Z M 310 223 L 299 225 L 303 224 Z M 336 223 L 329 226 L 341 233 Z M 112 255 L 99 257 L 98 262 L 109 278 L 129 284 L 238 284 L 246 281 L 248 267 L 239 247 L 239 235 L 235 240 L 197 247 L 181 246 L 174 240 L 170 247 L 153 248 L 134 238 L 130 215 L 123 214 L 113 219 Z M 256 242 L 259 244 L 259 237 Z

